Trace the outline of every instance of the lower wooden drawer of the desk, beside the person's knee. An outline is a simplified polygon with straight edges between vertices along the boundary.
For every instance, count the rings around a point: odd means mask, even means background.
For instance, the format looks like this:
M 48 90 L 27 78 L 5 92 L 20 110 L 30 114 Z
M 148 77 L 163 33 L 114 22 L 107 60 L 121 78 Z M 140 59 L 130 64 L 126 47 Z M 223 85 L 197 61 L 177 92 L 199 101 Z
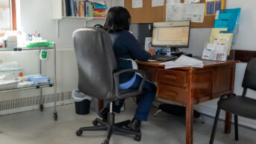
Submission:
M 158 85 L 158 98 L 170 102 L 186 103 L 187 91 L 185 88 L 179 88 L 170 85 Z

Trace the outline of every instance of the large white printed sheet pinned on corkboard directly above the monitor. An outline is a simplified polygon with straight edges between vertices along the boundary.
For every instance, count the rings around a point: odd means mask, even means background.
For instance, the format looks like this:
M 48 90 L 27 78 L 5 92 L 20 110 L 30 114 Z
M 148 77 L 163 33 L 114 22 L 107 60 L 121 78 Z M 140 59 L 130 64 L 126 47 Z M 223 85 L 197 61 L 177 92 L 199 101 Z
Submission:
M 191 20 L 204 22 L 205 4 L 170 4 L 166 5 L 166 22 Z

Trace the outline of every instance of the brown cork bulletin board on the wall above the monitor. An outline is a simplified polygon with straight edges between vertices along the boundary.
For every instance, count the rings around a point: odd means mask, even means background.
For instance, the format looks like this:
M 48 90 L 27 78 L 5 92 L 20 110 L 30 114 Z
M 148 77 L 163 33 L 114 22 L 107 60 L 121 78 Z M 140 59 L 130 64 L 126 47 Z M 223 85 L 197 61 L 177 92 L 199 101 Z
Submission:
M 152 0 L 143 0 L 143 7 L 132 8 L 132 0 L 125 0 L 125 8 L 131 13 L 131 23 L 153 23 L 153 22 L 165 22 L 166 21 L 166 6 L 152 7 Z M 226 0 L 223 0 L 223 8 L 225 8 Z M 181 0 L 184 3 L 184 0 Z M 205 3 L 205 0 L 201 0 L 200 3 Z M 166 0 L 164 0 L 166 4 Z M 192 22 L 191 27 L 213 27 L 215 21 L 215 15 L 205 16 L 204 22 L 196 23 Z

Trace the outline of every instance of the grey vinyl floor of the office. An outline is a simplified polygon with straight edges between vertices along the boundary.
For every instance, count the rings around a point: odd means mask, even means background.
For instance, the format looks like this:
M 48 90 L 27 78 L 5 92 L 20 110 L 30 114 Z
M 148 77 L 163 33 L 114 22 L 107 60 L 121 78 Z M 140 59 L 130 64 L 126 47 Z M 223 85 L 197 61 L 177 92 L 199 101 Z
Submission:
M 126 102 L 126 110 L 116 114 L 116 121 L 131 120 L 136 105 L 131 99 Z M 57 107 L 58 120 L 52 117 L 53 108 L 45 108 L 43 112 L 26 111 L 19 114 L 10 114 L 0 117 L 0 144 L 100 144 L 105 132 L 84 132 L 81 137 L 75 131 L 81 126 L 90 126 L 97 114 L 90 112 L 88 115 L 75 114 L 74 104 Z M 142 124 L 142 140 L 136 142 L 133 137 L 113 134 L 110 144 L 183 144 L 186 142 L 186 126 L 184 117 L 175 117 L 170 114 L 160 113 L 153 117 L 156 108 L 150 111 L 149 121 Z M 206 144 L 210 140 L 213 119 L 205 117 L 205 124 L 195 120 L 193 142 Z M 214 143 L 256 143 L 256 131 L 239 128 L 240 141 L 234 141 L 234 125 L 232 133 L 224 134 L 224 122 L 219 121 Z

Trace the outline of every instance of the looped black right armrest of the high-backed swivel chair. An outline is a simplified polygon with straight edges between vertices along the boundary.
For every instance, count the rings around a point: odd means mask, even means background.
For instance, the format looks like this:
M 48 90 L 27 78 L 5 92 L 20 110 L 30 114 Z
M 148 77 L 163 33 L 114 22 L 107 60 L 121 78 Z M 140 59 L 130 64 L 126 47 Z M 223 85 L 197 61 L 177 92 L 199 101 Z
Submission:
M 140 73 L 143 76 L 143 80 L 140 83 L 140 87 L 139 87 L 139 89 L 137 91 L 120 94 L 120 92 L 119 92 L 119 76 L 120 76 L 120 74 L 127 73 L 127 72 Z M 125 99 L 126 97 L 136 96 L 136 95 L 139 95 L 139 94 L 141 94 L 143 92 L 143 86 L 144 86 L 144 84 L 146 82 L 146 79 L 149 79 L 149 74 L 145 73 L 144 71 L 140 71 L 140 70 L 136 70 L 136 69 L 125 69 L 125 70 L 116 71 L 115 73 L 113 73 L 113 79 L 114 79 L 114 82 L 115 82 L 115 93 L 116 93 L 116 96 L 119 99 Z

